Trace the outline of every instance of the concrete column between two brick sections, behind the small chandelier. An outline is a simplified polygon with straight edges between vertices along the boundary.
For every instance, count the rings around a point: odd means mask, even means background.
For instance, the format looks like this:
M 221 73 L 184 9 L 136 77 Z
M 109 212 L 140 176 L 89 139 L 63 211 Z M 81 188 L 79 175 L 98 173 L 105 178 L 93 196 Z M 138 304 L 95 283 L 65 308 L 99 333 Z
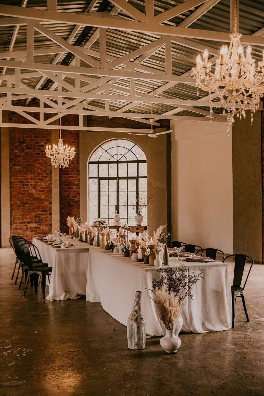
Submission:
M 58 125 L 58 122 L 56 121 Z M 51 130 L 51 145 L 58 144 L 59 131 Z M 51 232 L 60 229 L 59 167 L 51 166 Z

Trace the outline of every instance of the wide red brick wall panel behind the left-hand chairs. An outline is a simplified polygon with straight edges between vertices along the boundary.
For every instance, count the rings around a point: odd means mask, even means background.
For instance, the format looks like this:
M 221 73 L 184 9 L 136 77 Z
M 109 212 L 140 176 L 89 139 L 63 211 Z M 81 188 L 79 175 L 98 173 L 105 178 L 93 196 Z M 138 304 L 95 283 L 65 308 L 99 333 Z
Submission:
M 15 112 L 9 122 L 30 123 Z M 11 235 L 28 240 L 51 231 L 51 131 L 9 128 Z

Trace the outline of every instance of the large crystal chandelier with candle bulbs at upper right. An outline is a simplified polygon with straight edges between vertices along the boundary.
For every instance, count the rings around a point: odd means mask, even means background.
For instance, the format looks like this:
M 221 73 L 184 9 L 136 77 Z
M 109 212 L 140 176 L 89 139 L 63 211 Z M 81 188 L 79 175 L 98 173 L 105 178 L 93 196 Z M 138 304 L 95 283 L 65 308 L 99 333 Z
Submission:
M 213 91 L 219 94 L 220 107 L 224 108 L 223 114 L 227 113 L 228 135 L 232 131 L 236 114 L 240 119 L 242 116 L 245 118 L 246 110 L 251 110 L 251 123 L 253 122 L 253 113 L 258 110 L 264 92 L 264 51 L 262 61 L 258 62 L 256 68 L 255 59 L 251 57 L 251 46 L 247 46 L 244 53 L 241 45 L 241 34 L 237 32 L 236 10 L 235 0 L 234 33 L 230 34 L 229 48 L 226 45 L 222 46 L 215 71 L 212 70 L 212 63 L 208 62 L 207 49 L 203 52 L 203 59 L 198 55 L 196 67 L 192 68 L 198 89 L 209 92 L 210 122 L 214 105 L 211 95 Z

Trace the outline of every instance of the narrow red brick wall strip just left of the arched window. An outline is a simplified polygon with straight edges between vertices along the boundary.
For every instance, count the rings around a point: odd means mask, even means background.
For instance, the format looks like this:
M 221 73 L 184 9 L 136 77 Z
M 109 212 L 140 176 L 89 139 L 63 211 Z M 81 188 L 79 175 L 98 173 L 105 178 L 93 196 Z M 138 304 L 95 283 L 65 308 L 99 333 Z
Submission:
M 68 115 L 62 118 L 61 125 L 78 125 L 78 116 Z M 63 142 L 74 147 L 74 161 L 68 168 L 60 169 L 60 230 L 68 232 L 67 216 L 80 217 L 80 163 L 79 163 L 79 131 L 62 130 Z

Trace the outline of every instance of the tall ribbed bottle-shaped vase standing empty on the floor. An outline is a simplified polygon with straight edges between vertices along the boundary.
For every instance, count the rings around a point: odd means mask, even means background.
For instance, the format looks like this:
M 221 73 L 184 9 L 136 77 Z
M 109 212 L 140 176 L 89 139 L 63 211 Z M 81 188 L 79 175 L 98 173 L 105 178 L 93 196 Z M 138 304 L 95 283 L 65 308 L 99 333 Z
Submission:
M 127 319 L 127 347 L 144 349 L 146 346 L 146 320 L 141 312 L 141 291 L 136 291 L 131 314 Z

